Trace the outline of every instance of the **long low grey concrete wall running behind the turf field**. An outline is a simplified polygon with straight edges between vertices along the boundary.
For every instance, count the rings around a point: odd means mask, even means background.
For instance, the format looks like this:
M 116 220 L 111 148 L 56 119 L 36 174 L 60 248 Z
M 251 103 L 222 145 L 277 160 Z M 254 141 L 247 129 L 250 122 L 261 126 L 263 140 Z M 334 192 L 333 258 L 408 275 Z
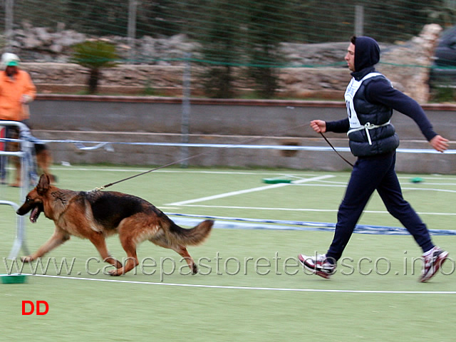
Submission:
M 182 135 L 180 98 L 134 96 L 39 95 L 30 105 L 33 135 L 49 142 L 56 163 L 166 165 L 197 156 L 189 165 L 232 167 L 285 167 L 307 170 L 348 170 L 348 165 L 311 129 L 310 120 L 346 117 L 343 101 L 220 100 L 193 98 L 189 135 Z M 435 130 L 455 148 L 456 105 L 423 105 Z M 400 149 L 430 149 L 413 120 L 393 115 Z M 345 134 L 327 133 L 336 147 L 348 147 Z M 79 150 L 68 140 L 83 140 L 87 147 L 111 142 L 106 150 Z M 191 144 L 301 146 L 326 150 L 265 148 L 179 147 Z M 160 143 L 163 145 L 150 145 Z M 167 145 L 168 144 L 168 145 Z M 106 146 L 105 146 L 106 147 Z M 187 155 L 186 155 L 187 154 Z M 350 152 L 341 154 L 351 162 Z M 403 153 L 396 170 L 410 173 L 455 174 L 455 155 Z

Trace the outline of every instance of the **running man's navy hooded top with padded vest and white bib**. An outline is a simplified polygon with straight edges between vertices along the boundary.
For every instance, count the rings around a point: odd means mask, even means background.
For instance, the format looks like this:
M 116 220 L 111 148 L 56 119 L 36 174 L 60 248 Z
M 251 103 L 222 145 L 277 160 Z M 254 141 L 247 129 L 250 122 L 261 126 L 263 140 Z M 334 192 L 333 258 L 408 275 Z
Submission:
M 364 157 L 392 152 L 398 146 L 393 125 L 388 124 L 393 110 L 408 115 L 417 123 L 425 138 L 429 141 L 437 135 L 427 119 L 423 108 L 413 98 L 391 86 L 385 76 L 375 71 L 375 64 L 380 60 L 378 43 L 369 37 L 359 36 L 355 42 L 355 71 L 348 90 L 358 84 L 356 93 L 347 103 L 349 118 L 326 123 L 326 131 L 349 133 L 353 155 Z M 356 87 L 355 87 L 356 88 Z M 347 93 L 346 93 L 347 95 Z M 352 94 L 353 95 L 353 94 Z M 347 97 L 346 97 L 346 102 Z M 358 115 L 358 129 L 353 130 L 353 115 Z M 368 128 L 370 127 L 370 128 Z

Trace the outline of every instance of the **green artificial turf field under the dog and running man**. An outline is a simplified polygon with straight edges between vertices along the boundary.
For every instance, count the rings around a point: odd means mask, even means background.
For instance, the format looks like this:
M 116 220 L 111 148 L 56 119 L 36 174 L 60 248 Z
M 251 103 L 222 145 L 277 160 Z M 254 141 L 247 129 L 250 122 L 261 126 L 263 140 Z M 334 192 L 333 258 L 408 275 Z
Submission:
M 53 167 L 57 185 L 72 190 L 90 190 L 143 170 Z M 333 177 L 175 204 L 264 187 L 263 178 L 290 174 Z M 430 229 L 455 229 L 456 177 L 419 175 L 423 182 L 412 183 L 413 176 L 400 175 L 405 198 Z M 107 190 L 138 195 L 171 213 L 336 222 L 348 177 L 348 172 L 167 168 Z M 0 196 L 19 201 L 18 190 L 4 185 Z M 11 270 L 6 257 L 16 217 L 7 206 L 0 206 L 0 215 L 4 274 Z M 400 227 L 377 195 L 360 223 Z M 53 222 L 41 214 L 26 229 L 27 246 L 34 251 L 51 236 Z M 297 254 L 324 253 L 331 239 L 332 232 L 311 230 L 214 229 L 205 244 L 189 248 L 201 274 L 188 274 L 175 252 L 145 242 L 138 248 L 140 266 L 113 278 L 103 274 L 109 268 L 95 247 L 73 237 L 43 257 L 43 270 L 36 262 L 25 264 L 24 273 L 38 274 L 28 276 L 26 284 L 0 284 L 1 341 L 454 340 L 455 261 L 447 261 L 445 274 L 421 284 L 419 261 L 413 267 L 421 252 L 412 237 L 353 234 L 331 280 L 296 266 Z M 450 257 L 456 255 L 455 236 L 433 240 Z M 108 238 L 108 248 L 118 259 L 125 257 L 118 237 Z M 70 271 L 59 270 L 63 260 L 73 263 Z M 47 301 L 48 314 L 23 316 L 22 301 Z

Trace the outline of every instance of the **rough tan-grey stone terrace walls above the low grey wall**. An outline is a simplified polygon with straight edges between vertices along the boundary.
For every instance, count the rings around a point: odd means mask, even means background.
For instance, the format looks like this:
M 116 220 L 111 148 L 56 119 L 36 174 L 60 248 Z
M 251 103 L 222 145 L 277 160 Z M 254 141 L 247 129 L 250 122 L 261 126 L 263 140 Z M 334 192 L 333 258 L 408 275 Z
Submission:
M 31 31 L 31 29 L 29 29 Z M 378 70 L 385 74 L 393 82 L 393 86 L 412 96 L 420 103 L 429 100 L 428 77 L 434 46 L 437 43 L 440 26 L 431 24 L 423 28 L 420 36 L 405 43 L 394 45 L 380 44 L 382 49 L 381 63 Z M 24 33 L 25 34 L 25 33 Z M 47 36 L 41 31 L 43 41 L 45 40 L 53 47 L 54 58 L 48 58 L 51 62 L 32 63 L 31 56 L 37 60 L 43 58 L 43 51 L 38 54 L 31 54 L 30 49 L 36 51 L 38 38 L 28 38 L 26 46 L 16 51 L 22 58 L 23 68 L 31 73 L 32 79 L 40 93 L 77 93 L 86 89 L 86 78 L 88 71 L 81 66 L 71 63 L 61 63 L 62 58 L 56 55 L 58 51 L 64 53 L 65 48 L 56 46 L 56 41 L 75 42 L 75 38 L 54 38 Z M 78 36 L 77 40 L 83 37 Z M 142 53 L 158 54 L 171 53 L 172 55 L 183 56 L 185 51 L 192 51 L 195 45 L 188 43 L 185 36 L 175 36 L 167 43 L 160 41 L 159 44 L 148 37 L 143 43 L 140 51 Z M 33 42 L 33 43 L 32 43 Z M 154 45 L 155 44 L 155 45 Z M 166 45 L 167 44 L 167 45 Z M 160 48 L 157 48 L 157 45 Z M 148 46 L 148 48 L 146 48 Z M 178 50 L 179 46 L 182 48 Z M 350 81 L 350 73 L 346 67 L 339 68 L 302 68 L 299 66 L 316 63 L 321 58 L 321 65 L 328 65 L 335 61 L 343 61 L 348 43 L 324 43 L 324 44 L 282 44 L 284 55 L 288 56 L 291 66 L 296 68 L 279 69 L 280 87 L 279 96 L 292 98 L 317 98 L 317 99 L 341 99 L 343 92 Z M 28 48 L 28 50 L 26 49 Z M 125 46 L 124 50 L 125 50 Z M 169 48 L 167 50 L 167 47 Z M 144 52 L 146 51 L 146 52 Z M 126 53 L 123 51 L 123 53 Z M 41 57 L 40 57 L 41 56 Z M 51 56 L 51 55 L 49 55 Z M 65 59 L 65 58 L 63 58 Z M 182 95 L 182 73 L 183 66 L 180 63 L 156 63 L 138 65 L 120 65 L 115 68 L 106 68 L 102 71 L 100 79 L 100 93 L 110 94 L 134 94 L 134 95 Z M 199 68 L 192 66 L 192 95 L 202 95 L 202 87 L 197 81 Z M 242 78 L 239 78 L 242 80 Z M 244 91 L 251 90 L 248 84 L 238 81 Z

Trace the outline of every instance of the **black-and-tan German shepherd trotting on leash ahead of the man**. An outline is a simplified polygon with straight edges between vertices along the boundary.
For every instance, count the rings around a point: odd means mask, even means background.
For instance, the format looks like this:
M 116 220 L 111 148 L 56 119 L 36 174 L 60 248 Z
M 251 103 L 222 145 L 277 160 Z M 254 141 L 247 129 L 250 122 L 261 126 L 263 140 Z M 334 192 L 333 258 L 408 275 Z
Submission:
M 41 175 L 38 185 L 28 192 L 24 204 L 17 214 L 30 214 L 30 221 L 36 222 L 41 212 L 52 219 L 56 229 L 37 252 L 21 258 L 33 261 L 70 239 L 71 235 L 89 239 L 103 261 L 115 266 L 112 276 L 125 274 L 138 265 L 136 247 L 145 240 L 160 247 L 170 248 L 187 261 L 193 274 L 198 269 L 187 246 L 204 242 L 214 224 L 205 220 L 192 229 L 184 229 L 167 217 L 160 209 L 145 199 L 113 191 L 77 192 L 63 190 L 51 185 L 49 176 Z M 105 238 L 119 234 L 120 243 L 127 253 L 125 265 L 110 256 Z

